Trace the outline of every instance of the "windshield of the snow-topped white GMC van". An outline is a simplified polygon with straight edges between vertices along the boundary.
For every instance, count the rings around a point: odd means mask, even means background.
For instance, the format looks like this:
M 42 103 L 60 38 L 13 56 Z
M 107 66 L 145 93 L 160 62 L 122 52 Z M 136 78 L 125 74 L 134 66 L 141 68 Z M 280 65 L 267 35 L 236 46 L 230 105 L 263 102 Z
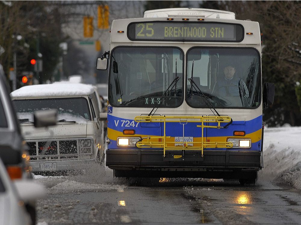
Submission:
M 33 113 L 36 110 L 57 109 L 60 114 L 83 117 L 91 120 L 86 98 L 44 98 L 13 100 L 17 113 Z M 28 118 L 29 119 L 29 118 Z

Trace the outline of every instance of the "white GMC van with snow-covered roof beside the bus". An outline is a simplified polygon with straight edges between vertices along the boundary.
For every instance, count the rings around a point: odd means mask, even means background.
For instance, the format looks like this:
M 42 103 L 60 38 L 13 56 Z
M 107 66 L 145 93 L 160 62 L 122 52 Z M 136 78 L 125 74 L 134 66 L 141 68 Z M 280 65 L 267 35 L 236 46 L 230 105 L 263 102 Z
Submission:
M 83 169 L 104 160 L 101 106 L 92 85 L 56 83 L 11 93 L 33 172 Z M 35 129 L 33 112 L 57 109 L 57 125 Z

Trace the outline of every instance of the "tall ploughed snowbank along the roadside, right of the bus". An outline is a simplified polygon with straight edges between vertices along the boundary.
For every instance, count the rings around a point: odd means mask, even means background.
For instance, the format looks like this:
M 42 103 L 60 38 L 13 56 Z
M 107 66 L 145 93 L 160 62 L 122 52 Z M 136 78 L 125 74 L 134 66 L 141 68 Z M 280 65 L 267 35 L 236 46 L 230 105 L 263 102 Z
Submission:
M 263 175 L 301 189 L 301 127 L 265 128 Z

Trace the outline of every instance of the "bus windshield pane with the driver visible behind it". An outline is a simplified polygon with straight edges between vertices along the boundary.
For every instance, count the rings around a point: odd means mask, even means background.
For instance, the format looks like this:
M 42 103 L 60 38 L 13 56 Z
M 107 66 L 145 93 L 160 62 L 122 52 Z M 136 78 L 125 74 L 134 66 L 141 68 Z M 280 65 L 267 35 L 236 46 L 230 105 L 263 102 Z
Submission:
M 194 108 L 256 108 L 259 53 L 250 48 L 193 48 L 187 54 L 187 103 Z M 208 101 L 206 101 L 206 99 Z

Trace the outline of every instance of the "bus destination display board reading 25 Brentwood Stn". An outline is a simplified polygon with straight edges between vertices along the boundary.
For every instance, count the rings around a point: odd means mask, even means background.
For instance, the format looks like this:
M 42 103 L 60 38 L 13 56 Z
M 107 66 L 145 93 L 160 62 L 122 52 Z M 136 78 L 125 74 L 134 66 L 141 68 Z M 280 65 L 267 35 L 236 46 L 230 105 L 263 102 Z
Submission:
M 214 22 L 135 22 L 128 26 L 132 41 L 219 41 L 240 42 L 243 27 Z

